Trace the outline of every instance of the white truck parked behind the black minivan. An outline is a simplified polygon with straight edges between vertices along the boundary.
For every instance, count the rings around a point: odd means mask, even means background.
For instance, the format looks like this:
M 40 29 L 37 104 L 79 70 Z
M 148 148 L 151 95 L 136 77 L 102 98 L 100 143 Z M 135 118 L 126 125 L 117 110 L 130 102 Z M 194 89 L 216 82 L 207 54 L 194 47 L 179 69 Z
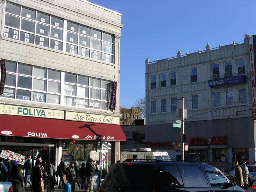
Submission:
M 140 148 L 140 149 L 124 149 L 121 152 L 120 161 L 123 162 L 126 159 L 138 159 L 138 161 L 144 159 L 158 159 L 158 160 L 169 160 L 170 157 L 168 152 L 163 151 L 151 151 L 151 148 Z

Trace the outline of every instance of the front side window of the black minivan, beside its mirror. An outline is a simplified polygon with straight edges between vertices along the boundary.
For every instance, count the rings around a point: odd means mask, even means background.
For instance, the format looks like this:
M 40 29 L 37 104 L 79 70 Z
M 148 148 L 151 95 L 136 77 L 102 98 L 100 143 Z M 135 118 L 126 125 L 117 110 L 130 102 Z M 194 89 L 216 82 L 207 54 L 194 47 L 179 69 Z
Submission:
M 205 167 L 205 172 L 212 187 L 221 187 L 225 183 L 227 184 L 227 179 L 217 169 Z

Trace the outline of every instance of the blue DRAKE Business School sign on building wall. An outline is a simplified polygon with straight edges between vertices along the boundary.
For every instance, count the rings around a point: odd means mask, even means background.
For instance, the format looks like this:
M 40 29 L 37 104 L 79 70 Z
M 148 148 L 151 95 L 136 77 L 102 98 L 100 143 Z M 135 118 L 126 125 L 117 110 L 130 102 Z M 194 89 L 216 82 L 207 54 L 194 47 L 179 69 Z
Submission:
M 246 83 L 246 76 L 245 75 L 239 75 L 239 76 L 233 76 L 233 77 L 213 79 L 213 80 L 209 80 L 208 83 L 209 83 L 209 87 L 225 86 L 225 85 L 232 85 L 232 84 L 238 84 L 238 83 Z

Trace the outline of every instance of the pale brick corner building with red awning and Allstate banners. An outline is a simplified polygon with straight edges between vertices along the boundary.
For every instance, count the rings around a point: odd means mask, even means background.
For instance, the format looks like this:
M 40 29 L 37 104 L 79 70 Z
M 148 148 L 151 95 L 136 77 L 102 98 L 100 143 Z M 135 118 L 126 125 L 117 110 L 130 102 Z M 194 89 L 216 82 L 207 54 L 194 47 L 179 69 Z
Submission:
M 1 150 L 57 165 L 92 158 L 106 172 L 126 140 L 115 107 L 121 14 L 85 0 L 9 0 L 0 14 Z

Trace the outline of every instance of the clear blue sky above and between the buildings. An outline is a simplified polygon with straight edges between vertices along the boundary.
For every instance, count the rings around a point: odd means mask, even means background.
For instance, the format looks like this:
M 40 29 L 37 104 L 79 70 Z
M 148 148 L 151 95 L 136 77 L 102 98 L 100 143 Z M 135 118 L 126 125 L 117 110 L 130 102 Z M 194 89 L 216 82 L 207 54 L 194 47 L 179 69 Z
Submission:
M 145 60 L 243 43 L 256 34 L 256 0 L 88 0 L 122 14 L 120 105 L 145 95 Z

